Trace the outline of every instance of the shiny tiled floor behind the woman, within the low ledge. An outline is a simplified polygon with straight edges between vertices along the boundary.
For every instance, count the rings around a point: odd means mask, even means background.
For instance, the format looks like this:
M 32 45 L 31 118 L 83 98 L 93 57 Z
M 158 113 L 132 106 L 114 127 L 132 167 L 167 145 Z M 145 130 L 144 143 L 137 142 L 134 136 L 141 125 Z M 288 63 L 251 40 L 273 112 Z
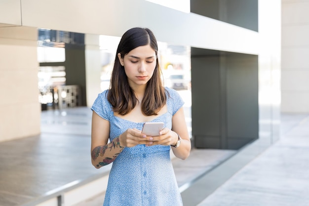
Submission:
M 91 114 L 86 107 L 44 111 L 40 135 L 0 143 L 0 206 L 32 205 L 72 182 L 90 181 L 109 171 L 109 165 L 91 165 Z M 173 159 L 180 188 L 234 153 L 193 150 L 186 161 Z

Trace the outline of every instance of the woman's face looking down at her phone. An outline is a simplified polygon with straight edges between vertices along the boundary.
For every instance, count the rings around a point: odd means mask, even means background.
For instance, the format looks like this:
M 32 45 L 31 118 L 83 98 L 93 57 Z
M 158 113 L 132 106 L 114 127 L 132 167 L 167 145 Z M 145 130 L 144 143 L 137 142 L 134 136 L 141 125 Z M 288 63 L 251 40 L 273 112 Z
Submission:
M 146 85 L 154 74 L 156 56 L 150 45 L 139 46 L 131 50 L 121 58 L 118 53 L 120 64 L 124 66 L 124 71 L 128 77 L 128 82 L 132 88 L 139 85 Z

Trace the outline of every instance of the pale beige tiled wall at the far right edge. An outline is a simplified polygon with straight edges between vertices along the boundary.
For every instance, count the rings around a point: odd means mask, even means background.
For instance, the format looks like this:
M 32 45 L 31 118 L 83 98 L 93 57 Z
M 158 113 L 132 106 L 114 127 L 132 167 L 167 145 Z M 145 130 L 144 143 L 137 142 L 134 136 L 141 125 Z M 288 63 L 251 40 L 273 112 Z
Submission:
M 308 11 L 309 0 L 282 0 L 282 112 L 309 112 Z

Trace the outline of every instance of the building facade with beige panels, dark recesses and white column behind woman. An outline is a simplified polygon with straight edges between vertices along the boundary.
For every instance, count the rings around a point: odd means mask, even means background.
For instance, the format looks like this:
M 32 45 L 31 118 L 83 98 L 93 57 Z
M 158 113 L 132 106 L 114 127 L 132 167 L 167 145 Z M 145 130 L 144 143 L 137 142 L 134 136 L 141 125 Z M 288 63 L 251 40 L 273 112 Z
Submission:
M 146 0 L 0 5 L 0 141 L 40 133 L 38 28 L 85 34 L 86 106 L 100 92 L 100 35 L 148 27 L 158 41 L 191 47 L 195 147 L 239 149 L 279 136 L 280 0 L 191 0 L 190 13 Z

